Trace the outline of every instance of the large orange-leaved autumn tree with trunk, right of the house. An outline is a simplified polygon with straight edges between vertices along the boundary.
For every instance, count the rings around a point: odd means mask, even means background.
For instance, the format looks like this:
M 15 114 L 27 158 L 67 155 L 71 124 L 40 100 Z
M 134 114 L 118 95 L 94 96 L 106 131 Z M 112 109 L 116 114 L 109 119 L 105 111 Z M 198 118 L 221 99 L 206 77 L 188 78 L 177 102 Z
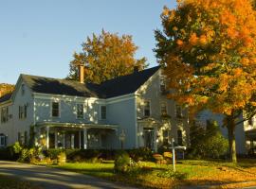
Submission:
M 164 8 L 155 31 L 156 58 L 170 94 L 191 111 L 225 115 L 230 161 L 236 162 L 235 127 L 256 110 L 256 15 L 250 0 L 179 0 Z

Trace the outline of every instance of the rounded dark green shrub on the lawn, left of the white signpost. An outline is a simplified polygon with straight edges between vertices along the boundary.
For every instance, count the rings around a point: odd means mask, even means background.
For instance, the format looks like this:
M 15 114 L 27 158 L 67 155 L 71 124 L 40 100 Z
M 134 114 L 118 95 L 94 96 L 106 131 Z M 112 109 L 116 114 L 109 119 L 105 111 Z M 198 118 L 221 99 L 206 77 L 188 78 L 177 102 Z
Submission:
M 119 151 L 115 158 L 114 170 L 116 173 L 127 173 L 131 163 L 131 158 L 126 151 Z

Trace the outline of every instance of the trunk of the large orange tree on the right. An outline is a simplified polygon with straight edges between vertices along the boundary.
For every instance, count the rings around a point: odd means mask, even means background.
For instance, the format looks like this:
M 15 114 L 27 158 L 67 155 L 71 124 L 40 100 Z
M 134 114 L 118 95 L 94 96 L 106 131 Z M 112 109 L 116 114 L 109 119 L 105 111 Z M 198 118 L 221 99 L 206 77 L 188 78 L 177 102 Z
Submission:
M 227 116 L 227 129 L 229 133 L 229 161 L 237 163 L 236 160 L 236 147 L 235 147 L 235 120 L 232 115 Z

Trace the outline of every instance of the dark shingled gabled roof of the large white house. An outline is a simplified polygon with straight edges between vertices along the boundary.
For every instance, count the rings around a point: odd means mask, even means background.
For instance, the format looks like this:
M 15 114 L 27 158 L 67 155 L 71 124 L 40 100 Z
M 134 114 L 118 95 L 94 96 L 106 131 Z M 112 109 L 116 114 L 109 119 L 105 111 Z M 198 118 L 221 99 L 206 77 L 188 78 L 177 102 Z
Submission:
M 110 79 L 101 84 L 82 84 L 75 80 L 30 75 L 21 75 L 21 78 L 34 93 L 109 98 L 135 93 L 159 68 L 160 66 L 156 66 L 127 76 Z M 9 99 L 9 97 L 10 95 L 3 96 L 0 100 L 3 98 L 3 101 L 6 101 L 5 99 Z

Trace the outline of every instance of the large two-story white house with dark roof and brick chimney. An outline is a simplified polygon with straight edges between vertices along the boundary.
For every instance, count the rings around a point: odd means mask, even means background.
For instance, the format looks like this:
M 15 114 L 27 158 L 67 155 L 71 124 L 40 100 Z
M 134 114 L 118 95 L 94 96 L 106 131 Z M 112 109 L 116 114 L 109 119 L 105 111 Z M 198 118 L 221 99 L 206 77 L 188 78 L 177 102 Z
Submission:
M 157 150 L 174 140 L 188 144 L 185 110 L 167 99 L 159 66 L 101 84 L 20 75 L 0 98 L 0 146 L 16 141 L 46 148 Z

